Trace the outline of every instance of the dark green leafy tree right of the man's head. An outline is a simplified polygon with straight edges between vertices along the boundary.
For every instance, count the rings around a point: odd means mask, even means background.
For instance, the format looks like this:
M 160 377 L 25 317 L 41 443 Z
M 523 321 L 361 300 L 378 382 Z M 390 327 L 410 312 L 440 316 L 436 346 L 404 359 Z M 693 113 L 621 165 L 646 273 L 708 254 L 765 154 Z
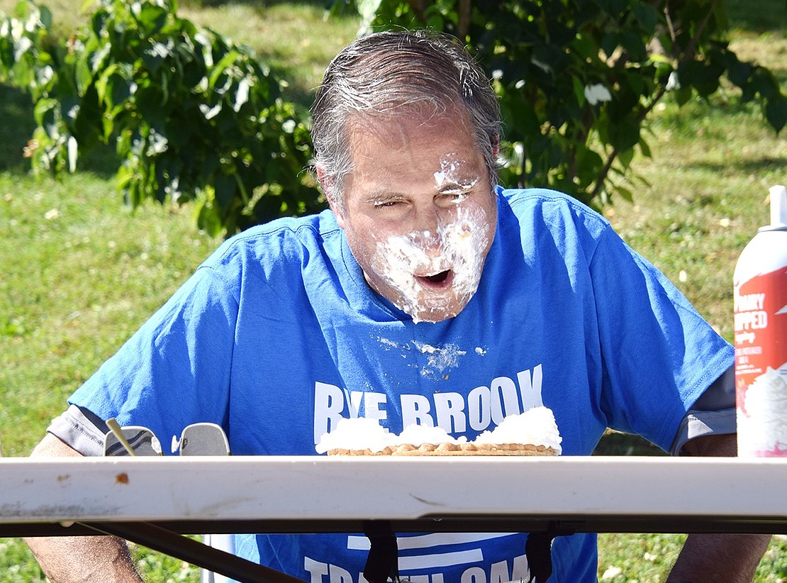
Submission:
M 501 99 L 507 186 L 548 186 L 590 204 L 631 199 L 635 149 L 665 95 L 685 104 L 722 77 L 781 131 L 773 74 L 738 60 L 720 0 L 357 0 L 365 30 L 433 28 L 467 42 Z M 344 9 L 339 0 L 333 9 Z

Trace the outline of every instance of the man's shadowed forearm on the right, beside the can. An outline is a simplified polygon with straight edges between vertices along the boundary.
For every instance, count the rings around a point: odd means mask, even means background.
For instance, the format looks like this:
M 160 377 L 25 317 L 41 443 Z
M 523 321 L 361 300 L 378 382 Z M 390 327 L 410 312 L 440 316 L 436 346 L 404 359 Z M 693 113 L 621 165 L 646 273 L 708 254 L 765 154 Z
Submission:
M 736 456 L 735 434 L 697 437 L 684 446 L 691 456 Z M 744 583 L 752 581 L 770 535 L 690 534 L 667 583 Z

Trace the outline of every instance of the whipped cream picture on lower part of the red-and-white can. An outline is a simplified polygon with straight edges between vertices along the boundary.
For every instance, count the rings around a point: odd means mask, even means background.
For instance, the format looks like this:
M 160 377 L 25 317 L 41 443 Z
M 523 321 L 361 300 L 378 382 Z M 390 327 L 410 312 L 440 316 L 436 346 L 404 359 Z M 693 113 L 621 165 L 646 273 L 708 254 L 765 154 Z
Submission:
M 787 369 L 787 363 L 781 366 Z M 748 387 L 744 400 L 746 415 L 741 419 L 751 426 L 744 432 L 752 435 L 756 449 L 774 450 L 787 447 L 787 382 L 785 375 L 767 367 Z

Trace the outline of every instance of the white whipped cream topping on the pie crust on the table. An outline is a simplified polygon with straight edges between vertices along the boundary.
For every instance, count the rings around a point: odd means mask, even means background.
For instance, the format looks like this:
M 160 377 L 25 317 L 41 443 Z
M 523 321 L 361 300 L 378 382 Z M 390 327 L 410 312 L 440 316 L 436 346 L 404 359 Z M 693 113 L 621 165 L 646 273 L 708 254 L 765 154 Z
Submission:
M 473 443 L 476 444 L 507 444 L 544 445 L 555 450 L 560 456 L 560 443 L 563 437 L 557 430 L 555 415 L 546 407 L 534 407 L 521 415 L 508 415 L 494 430 L 484 431 Z M 467 437 L 451 437 L 442 427 L 408 425 L 399 435 L 390 434 L 376 419 L 341 419 L 336 428 L 320 437 L 315 447 L 317 453 L 325 453 L 331 449 L 349 449 L 371 452 L 382 452 L 386 447 L 397 445 L 423 444 L 440 445 L 442 443 L 467 443 Z

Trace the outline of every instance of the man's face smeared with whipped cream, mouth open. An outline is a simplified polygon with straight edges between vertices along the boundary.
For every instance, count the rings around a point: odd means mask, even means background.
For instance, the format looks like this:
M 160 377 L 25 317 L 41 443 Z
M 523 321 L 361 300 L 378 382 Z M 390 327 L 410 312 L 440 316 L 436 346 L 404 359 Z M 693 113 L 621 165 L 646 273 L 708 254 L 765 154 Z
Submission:
M 418 321 L 457 315 L 478 288 L 497 201 L 464 111 L 364 118 L 333 205 L 369 285 Z

